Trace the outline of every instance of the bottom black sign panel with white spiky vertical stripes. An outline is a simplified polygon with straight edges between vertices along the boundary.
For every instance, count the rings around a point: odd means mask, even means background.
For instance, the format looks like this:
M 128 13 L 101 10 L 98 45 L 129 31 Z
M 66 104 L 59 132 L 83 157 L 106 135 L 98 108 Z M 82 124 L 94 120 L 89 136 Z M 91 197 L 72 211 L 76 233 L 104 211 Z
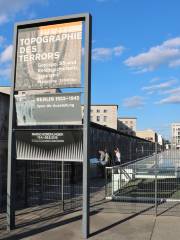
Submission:
M 17 160 L 83 161 L 83 131 L 16 131 Z

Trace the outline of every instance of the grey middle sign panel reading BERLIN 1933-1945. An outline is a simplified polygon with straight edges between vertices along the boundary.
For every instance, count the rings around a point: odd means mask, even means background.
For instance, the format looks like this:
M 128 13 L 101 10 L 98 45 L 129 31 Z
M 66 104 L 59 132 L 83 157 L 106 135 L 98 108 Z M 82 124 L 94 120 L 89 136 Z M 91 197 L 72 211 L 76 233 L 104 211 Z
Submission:
M 82 124 L 80 93 L 16 95 L 17 125 Z

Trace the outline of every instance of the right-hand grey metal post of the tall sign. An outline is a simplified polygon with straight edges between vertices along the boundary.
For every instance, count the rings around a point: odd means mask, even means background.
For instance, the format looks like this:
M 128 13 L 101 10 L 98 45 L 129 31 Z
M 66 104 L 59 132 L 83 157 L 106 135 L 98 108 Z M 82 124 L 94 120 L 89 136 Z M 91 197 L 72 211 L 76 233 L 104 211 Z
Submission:
M 84 81 L 84 124 L 83 124 L 83 236 L 88 238 L 90 228 L 89 151 L 90 151 L 90 105 L 91 105 L 91 42 L 92 17 L 85 21 L 85 81 Z

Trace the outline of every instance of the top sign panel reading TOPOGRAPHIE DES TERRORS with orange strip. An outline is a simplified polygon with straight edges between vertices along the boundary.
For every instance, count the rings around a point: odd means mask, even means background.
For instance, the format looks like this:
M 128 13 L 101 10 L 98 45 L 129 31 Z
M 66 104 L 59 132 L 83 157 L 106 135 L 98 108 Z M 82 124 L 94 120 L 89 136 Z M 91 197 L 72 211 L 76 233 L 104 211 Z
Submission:
M 82 22 L 18 30 L 16 90 L 78 87 Z

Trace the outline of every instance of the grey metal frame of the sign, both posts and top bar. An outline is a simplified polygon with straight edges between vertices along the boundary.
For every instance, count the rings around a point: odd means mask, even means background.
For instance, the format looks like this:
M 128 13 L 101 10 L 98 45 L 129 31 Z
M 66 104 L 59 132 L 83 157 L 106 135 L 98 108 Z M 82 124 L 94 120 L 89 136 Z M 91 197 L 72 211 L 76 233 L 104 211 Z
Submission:
M 7 172 L 7 228 L 15 228 L 15 177 L 16 177 L 16 151 L 15 138 L 15 81 L 17 64 L 18 30 L 49 24 L 83 21 L 85 24 L 85 69 L 84 69 L 84 122 L 83 122 L 83 237 L 89 236 L 89 145 L 90 145 L 90 104 L 91 104 L 91 45 L 92 45 L 92 17 L 89 13 L 75 14 L 63 17 L 46 18 L 17 23 L 14 26 L 14 50 L 12 64 L 12 89 L 9 109 L 8 133 L 8 172 Z

